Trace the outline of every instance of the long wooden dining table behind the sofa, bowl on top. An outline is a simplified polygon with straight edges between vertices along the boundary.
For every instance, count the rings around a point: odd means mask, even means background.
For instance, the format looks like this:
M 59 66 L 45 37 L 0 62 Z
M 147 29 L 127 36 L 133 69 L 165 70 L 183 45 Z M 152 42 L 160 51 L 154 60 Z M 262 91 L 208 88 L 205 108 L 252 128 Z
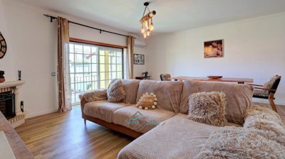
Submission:
M 239 84 L 252 83 L 252 78 L 236 78 L 236 77 L 222 77 L 218 79 L 212 79 L 208 77 L 188 77 L 188 76 L 177 76 L 171 77 L 171 79 L 177 80 L 195 80 L 195 81 L 212 81 L 212 82 L 237 82 Z

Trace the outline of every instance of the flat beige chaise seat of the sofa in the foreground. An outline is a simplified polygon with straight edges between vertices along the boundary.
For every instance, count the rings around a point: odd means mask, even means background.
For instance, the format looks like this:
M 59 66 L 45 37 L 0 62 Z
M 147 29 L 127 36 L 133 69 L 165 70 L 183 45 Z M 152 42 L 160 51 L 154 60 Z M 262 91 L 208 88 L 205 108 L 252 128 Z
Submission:
M 118 158 L 193 158 L 210 133 L 218 128 L 190 121 L 185 114 L 177 114 L 125 146 Z

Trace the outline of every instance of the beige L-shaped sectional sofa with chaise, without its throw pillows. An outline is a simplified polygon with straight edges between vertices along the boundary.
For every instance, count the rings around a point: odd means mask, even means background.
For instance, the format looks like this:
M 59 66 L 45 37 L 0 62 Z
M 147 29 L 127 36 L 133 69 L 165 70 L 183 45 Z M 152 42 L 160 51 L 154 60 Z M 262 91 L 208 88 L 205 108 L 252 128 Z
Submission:
M 227 125 L 242 126 L 244 112 L 252 105 L 253 87 L 222 82 L 123 79 L 125 101 L 107 102 L 96 92 L 81 96 L 82 117 L 137 139 L 123 148 L 118 158 L 193 158 L 217 126 L 186 118 L 188 97 L 195 92 L 224 92 L 227 95 Z M 157 108 L 138 109 L 145 92 L 157 96 Z M 100 99 L 96 101 L 95 99 Z M 140 137 L 139 137 L 140 136 Z M 139 138 L 138 138 L 139 137 Z

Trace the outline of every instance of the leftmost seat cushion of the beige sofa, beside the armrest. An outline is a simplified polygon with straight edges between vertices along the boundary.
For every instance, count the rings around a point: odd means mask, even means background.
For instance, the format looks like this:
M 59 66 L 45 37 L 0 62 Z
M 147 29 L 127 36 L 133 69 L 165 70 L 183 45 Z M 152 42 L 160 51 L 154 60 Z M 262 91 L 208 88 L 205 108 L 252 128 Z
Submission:
M 89 102 L 85 104 L 83 113 L 88 116 L 112 123 L 114 112 L 125 106 L 130 106 L 130 104 L 110 103 L 107 101 Z

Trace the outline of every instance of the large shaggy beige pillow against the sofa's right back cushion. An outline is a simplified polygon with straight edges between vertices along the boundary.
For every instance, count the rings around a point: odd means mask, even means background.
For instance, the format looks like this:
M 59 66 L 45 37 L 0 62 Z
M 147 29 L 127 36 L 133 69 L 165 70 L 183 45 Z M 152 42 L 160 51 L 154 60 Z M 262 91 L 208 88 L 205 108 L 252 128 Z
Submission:
M 227 123 L 226 104 L 227 97 L 223 92 L 193 93 L 189 97 L 187 119 L 214 126 L 224 126 Z

